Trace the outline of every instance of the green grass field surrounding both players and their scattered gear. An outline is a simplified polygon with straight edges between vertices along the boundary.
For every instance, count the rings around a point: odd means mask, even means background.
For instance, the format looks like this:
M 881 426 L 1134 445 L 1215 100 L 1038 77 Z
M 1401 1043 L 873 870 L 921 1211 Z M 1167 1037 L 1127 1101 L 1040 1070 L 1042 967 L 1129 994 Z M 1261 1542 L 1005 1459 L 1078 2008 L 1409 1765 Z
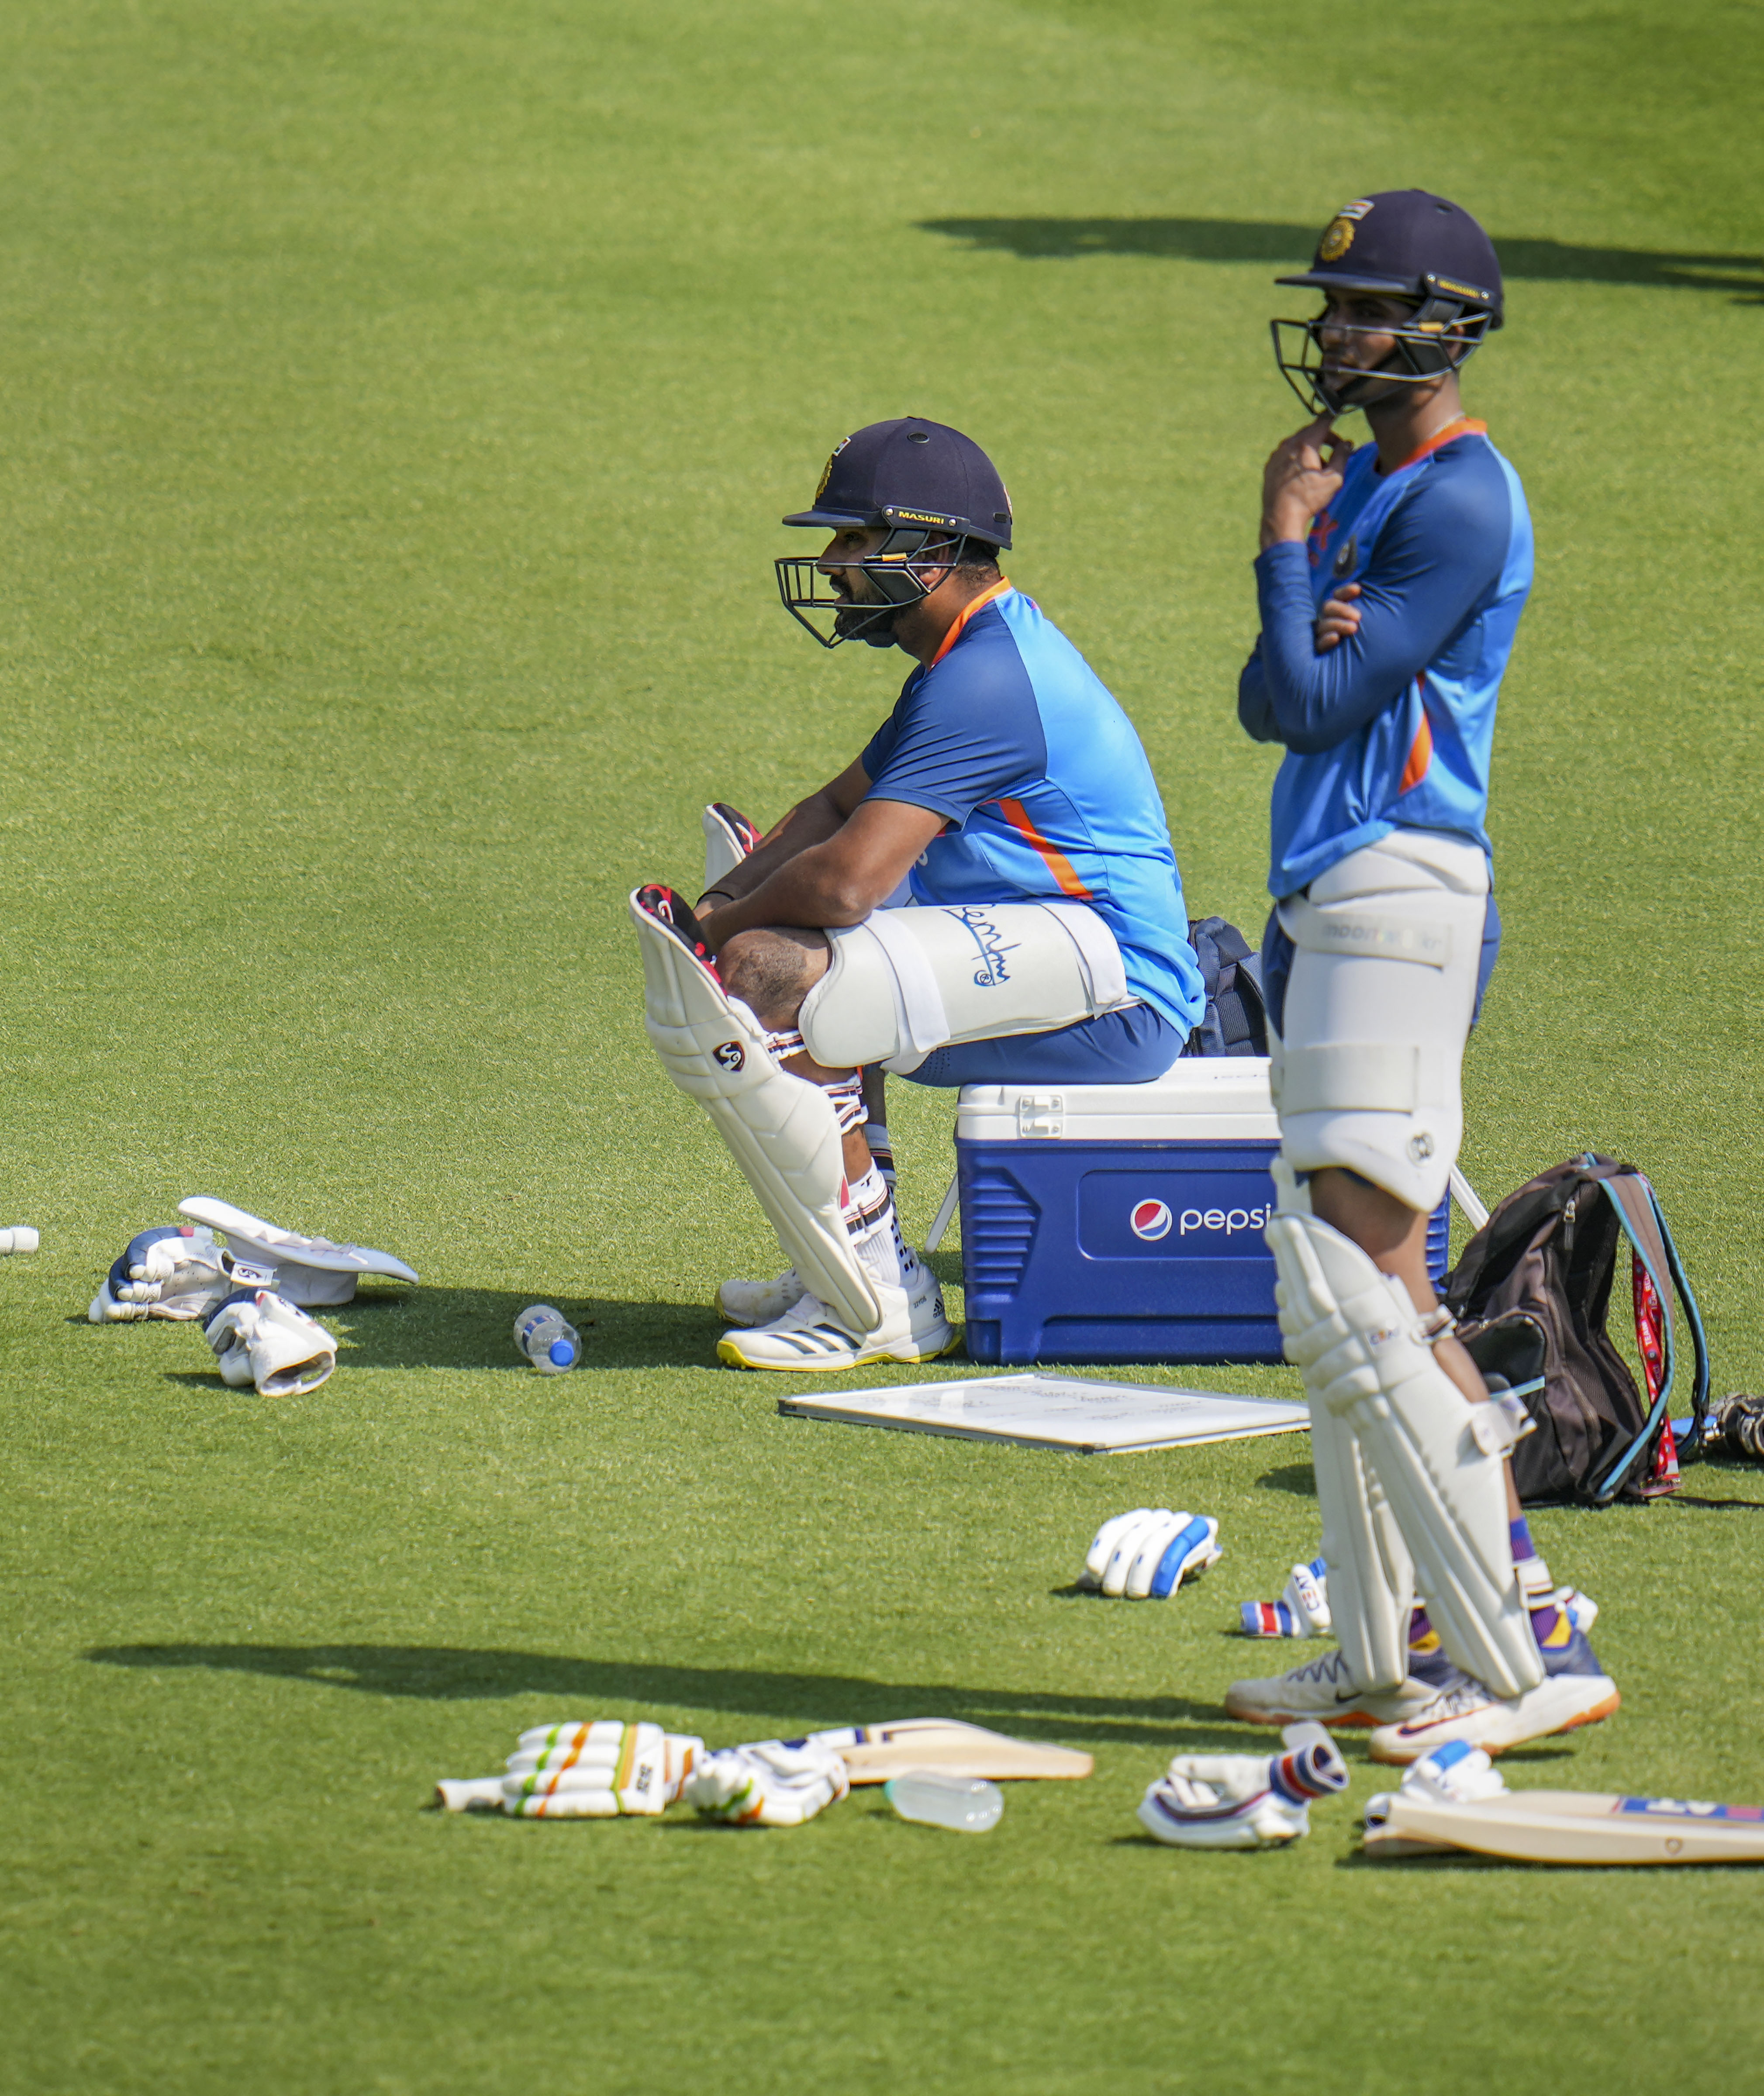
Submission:
M 1315 1547 L 1303 1442 L 1063 1459 L 717 1371 L 715 1281 L 774 1251 L 657 1073 L 623 893 L 891 702 L 768 564 L 829 444 L 912 411 L 1001 461 L 1191 905 L 1259 926 L 1269 279 L 1342 199 L 1443 189 L 1508 258 L 1468 396 L 1540 543 L 1466 1167 L 1634 1157 L 1716 1388 L 1760 1388 L 1760 50 L 1737 0 L 6 10 L 0 1224 L 44 1249 L 0 1266 L 0 2086 L 1754 2086 L 1754 1872 L 1368 1865 L 1359 1759 L 1292 1851 L 1137 1838 L 1173 1750 L 1248 1738 L 1219 1698 L 1267 1647 L 1225 1633 Z M 919 1230 L 950 1117 L 896 1107 Z M 285 1404 L 189 1327 L 88 1327 L 199 1191 L 424 1287 Z M 585 1373 L 518 1364 L 535 1297 Z M 1063 1593 L 1147 1501 L 1219 1513 L 1219 1572 Z M 1508 1780 L 1764 1794 L 1760 1515 L 1535 1526 L 1626 1704 Z M 977 1842 L 875 1794 L 747 1836 L 424 1811 L 547 1717 L 921 1710 L 1097 1773 Z

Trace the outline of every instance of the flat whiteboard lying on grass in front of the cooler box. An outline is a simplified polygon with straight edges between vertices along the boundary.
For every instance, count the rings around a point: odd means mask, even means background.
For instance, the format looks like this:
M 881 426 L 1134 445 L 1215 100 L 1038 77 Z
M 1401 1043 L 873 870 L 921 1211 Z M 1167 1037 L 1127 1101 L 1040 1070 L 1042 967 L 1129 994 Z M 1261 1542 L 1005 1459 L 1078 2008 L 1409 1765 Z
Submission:
M 894 1390 L 816 1390 L 780 1398 L 787 1419 L 845 1419 L 902 1434 L 954 1434 L 1021 1448 L 1133 1455 L 1202 1442 L 1296 1434 L 1303 1404 L 1227 1398 L 1219 1390 L 1105 1383 L 1076 1375 L 982 1375 L 961 1383 L 898 1383 Z

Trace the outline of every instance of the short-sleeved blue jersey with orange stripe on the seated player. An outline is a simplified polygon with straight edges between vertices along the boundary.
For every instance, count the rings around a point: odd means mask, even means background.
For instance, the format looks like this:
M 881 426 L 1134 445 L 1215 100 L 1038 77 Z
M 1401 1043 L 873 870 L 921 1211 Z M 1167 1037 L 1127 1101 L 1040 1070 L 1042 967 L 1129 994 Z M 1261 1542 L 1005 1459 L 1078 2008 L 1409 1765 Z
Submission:
M 1128 989 L 1187 1033 L 1206 1008 L 1158 782 L 1133 721 L 1009 583 L 906 679 L 862 757 L 870 801 L 942 815 L 921 903 L 1089 903 Z

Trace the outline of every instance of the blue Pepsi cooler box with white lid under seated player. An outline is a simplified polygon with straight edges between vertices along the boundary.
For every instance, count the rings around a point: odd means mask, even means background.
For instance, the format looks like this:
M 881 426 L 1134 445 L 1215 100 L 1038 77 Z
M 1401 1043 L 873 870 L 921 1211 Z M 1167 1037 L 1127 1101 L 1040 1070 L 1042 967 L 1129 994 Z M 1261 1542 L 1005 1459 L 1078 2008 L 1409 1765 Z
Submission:
M 980 1362 L 1279 1360 L 1263 1056 L 1156 1084 L 963 1086 L 967 1352 Z M 1447 1203 L 1428 1228 L 1445 1272 Z

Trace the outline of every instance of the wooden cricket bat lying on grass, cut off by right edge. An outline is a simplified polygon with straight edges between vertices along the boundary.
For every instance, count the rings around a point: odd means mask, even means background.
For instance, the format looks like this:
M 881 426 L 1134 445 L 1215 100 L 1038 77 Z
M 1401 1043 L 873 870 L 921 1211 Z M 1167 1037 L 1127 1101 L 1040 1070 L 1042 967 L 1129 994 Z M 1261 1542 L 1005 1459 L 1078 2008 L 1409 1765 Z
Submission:
M 1439 1805 L 1399 1790 L 1382 1826 L 1365 1832 L 1368 1855 L 1443 1849 L 1521 1863 L 1764 1863 L 1764 1805 L 1598 1790 L 1508 1790 L 1475 1805 Z

